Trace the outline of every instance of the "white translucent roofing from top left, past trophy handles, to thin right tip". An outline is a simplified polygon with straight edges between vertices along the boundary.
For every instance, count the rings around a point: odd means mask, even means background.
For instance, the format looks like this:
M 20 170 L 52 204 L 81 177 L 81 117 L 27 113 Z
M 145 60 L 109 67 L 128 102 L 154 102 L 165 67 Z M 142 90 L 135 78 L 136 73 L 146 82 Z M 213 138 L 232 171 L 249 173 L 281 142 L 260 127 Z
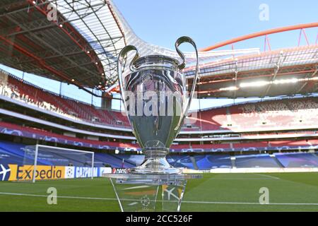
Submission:
M 150 44 L 139 38 L 122 13 L 110 0 L 53 0 L 58 11 L 86 38 L 95 50 L 105 71 L 107 85 L 117 82 L 117 56 L 127 44 L 139 49 L 141 56 L 160 54 L 179 59 L 175 50 Z M 258 48 L 199 52 L 200 61 L 211 61 L 232 54 L 259 53 Z M 195 61 L 194 52 L 185 52 L 187 63 Z M 130 60 L 130 59 L 128 59 Z

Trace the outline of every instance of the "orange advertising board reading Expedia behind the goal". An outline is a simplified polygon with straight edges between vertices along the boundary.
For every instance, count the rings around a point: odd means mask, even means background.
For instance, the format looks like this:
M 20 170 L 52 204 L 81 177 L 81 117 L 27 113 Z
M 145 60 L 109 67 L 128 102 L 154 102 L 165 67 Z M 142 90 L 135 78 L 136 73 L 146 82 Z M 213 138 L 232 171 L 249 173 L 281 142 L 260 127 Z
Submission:
M 23 165 L 18 166 L 17 179 L 30 180 L 33 179 L 34 166 Z M 61 179 L 64 178 L 65 167 L 38 165 L 35 171 L 35 179 Z

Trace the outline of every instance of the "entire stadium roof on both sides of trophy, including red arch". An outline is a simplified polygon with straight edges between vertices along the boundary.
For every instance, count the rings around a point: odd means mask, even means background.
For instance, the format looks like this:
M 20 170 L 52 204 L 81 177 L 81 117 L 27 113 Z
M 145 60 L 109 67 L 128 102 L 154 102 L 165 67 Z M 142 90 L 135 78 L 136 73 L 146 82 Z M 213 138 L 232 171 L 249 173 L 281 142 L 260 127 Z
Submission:
M 57 8 L 54 20 L 49 20 L 50 6 Z M 201 49 L 199 95 L 249 97 L 313 92 L 317 81 L 310 78 L 317 74 L 317 44 L 262 53 L 259 48 L 216 49 L 257 35 L 266 37 L 273 32 L 317 26 L 312 23 L 273 29 Z M 73 83 L 89 93 L 90 88 L 118 90 L 117 55 L 126 44 L 135 45 L 142 56 L 178 58 L 174 50 L 141 40 L 109 0 L 1 0 L 0 28 L 0 64 Z M 191 85 L 195 54 L 187 52 L 185 56 Z M 276 89 L 278 78 L 299 78 L 301 83 Z M 240 82 L 247 79 L 268 84 L 240 87 Z

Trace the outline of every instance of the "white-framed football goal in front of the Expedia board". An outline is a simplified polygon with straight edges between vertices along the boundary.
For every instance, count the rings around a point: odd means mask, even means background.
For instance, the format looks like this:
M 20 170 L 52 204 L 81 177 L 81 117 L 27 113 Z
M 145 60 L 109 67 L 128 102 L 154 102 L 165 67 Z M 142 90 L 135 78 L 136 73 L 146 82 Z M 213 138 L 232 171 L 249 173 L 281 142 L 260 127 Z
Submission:
M 28 145 L 24 148 L 23 167 L 25 169 L 25 175 L 22 177 L 23 180 L 29 180 L 33 183 L 35 183 L 37 177 L 54 179 L 55 171 L 52 172 L 52 169 L 66 169 L 66 167 L 88 169 L 90 170 L 90 177 L 93 179 L 94 152 L 48 145 Z M 49 169 L 51 170 L 49 177 L 45 174 L 47 167 L 51 167 Z M 32 174 L 30 173 L 31 171 Z M 75 174 L 75 172 L 73 172 L 73 174 Z

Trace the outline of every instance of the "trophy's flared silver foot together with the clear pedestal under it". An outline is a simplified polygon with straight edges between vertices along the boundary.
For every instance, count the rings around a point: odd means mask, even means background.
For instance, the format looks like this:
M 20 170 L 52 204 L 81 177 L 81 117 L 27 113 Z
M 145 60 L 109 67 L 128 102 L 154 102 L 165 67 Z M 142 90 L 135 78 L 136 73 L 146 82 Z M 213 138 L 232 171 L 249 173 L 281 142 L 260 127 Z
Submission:
M 179 211 L 188 179 L 166 160 L 169 148 L 143 148 L 145 160 L 128 174 L 102 174 L 110 178 L 122 211 Z M 161 193 L 161 196 L 158 194 Z

